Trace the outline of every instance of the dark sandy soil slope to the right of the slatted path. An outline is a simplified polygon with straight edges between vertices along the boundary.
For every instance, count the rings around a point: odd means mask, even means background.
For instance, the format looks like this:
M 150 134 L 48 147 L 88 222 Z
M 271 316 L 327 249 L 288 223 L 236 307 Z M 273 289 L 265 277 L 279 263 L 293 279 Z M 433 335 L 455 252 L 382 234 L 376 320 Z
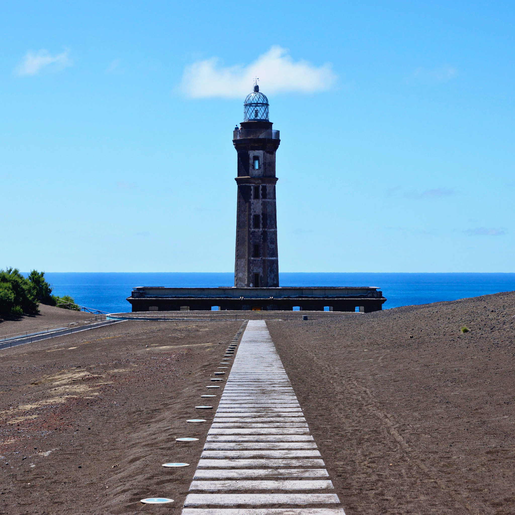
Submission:
M 348 515 L 515 513 L 514 315 L 504 293 L 267 322 Z

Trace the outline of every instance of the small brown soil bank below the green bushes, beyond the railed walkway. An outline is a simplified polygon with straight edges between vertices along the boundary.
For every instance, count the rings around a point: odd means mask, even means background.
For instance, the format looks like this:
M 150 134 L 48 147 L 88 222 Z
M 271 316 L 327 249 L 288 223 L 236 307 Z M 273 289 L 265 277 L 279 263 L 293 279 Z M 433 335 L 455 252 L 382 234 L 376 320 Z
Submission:
M 39 315 L 24 315 L 12 320 L 0 318 L 0 338 L 22 331 L 28 331 L 29 333 L 42 331 L 47 327 L 56 327 L 60 324 L 95 318 L 95 315 L 91 313 L 64 310 L 62 307 L 45 306 L 45 304 L 39 305 L 39 311 Z

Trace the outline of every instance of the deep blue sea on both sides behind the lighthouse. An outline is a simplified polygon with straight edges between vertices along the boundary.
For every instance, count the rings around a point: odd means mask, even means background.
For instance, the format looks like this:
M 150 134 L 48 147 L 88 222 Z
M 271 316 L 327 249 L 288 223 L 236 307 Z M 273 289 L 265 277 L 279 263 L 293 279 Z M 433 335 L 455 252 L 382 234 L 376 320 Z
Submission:
M 125 299 L 134 286 L 232 286 L 227 273 L 47 272 L 55 295 L 109 313 L 131 310 Z M 377 286 L 388 300 L 383 309 L 427 304 L 515 290 L 515 273 L 293 273 L 279 274 L 281 286 Z

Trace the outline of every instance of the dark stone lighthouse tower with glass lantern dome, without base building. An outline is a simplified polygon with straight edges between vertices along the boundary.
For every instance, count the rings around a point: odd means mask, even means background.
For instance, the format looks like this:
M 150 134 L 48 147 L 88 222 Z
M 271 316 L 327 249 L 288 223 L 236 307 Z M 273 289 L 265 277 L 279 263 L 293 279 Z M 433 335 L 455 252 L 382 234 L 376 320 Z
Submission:
M 268 99 L 258 84 L 245 99 L 244 121 L 234 130 L 238 153 L 238 201 L 234 286 L 279 286 L 276 215 L 276 150 L 279 131 L 272 130 Z

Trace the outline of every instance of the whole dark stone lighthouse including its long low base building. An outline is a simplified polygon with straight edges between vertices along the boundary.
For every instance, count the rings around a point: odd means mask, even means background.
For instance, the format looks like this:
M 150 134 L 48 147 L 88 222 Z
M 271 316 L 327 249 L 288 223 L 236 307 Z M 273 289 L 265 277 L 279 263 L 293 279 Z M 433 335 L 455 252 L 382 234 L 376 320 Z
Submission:
M 257 84 L 245 99 L 244 121 L 233 131 L 237 152 L 234 286 L 136 287 L 127 300 L 140 311 L 380 311 L 377 287 L 280 287 L 276 211 L 276 151 L 268 99 Z

